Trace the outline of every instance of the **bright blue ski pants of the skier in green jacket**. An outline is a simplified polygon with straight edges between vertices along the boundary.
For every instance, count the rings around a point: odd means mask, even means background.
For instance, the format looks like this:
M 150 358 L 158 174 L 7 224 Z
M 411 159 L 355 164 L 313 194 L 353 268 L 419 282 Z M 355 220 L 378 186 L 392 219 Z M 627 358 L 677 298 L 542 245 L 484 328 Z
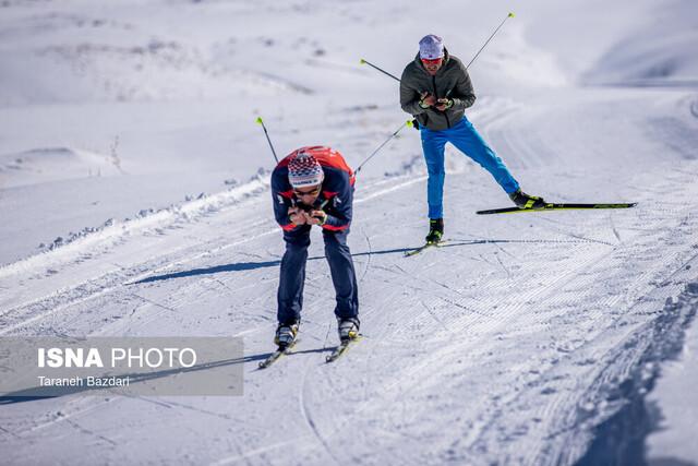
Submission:
M 488 170 L 507 193 L 519 189 L 504 162 L 490 148 L 466 117 L 453 128 L 442 131 L 421 128 L 422 150 L 426 162 L 426 202 L 429 218 L 444 217 L 444 150 L 449 142 Z

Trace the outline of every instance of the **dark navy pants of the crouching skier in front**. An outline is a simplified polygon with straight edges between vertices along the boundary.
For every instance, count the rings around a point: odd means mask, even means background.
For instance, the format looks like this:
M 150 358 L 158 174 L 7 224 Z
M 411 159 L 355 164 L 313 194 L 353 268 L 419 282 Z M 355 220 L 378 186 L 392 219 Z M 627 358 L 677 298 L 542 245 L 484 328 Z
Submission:
M 292 231 L 284 232 L 286 252 L 281 259 L 281 276 L 277 295 L 279 323 L 300 322 L 301 319 L 310 229 L 310 225 L 303 225 Z M 349 228 L 341 231 L 323 229 L 325 256 L 329 263 L 329 273 L 337 299 L 335 314 L 338 318 L 357 318 L 359 315 L 357 274 L 353 268 L 351 251 L 347 244 L 348 235 Z

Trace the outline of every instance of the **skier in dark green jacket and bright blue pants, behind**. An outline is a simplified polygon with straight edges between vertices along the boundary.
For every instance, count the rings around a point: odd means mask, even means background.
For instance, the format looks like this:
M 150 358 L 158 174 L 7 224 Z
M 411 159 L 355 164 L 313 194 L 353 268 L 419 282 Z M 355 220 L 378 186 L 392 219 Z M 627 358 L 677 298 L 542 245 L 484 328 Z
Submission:
M 400 106 L 419 122 L 429 172 L 430 231 L 426 242 L 444 234 L 444 148 L 450 142 L 488 170 L 521 208 L 542 208 L 542 198 L 526 194 L 497 155 L 465 116 L 476 101 L 470 76 L 462 62 L 448 53 L 441 37 L 430 34 L 419 43 L 419 53 L 400 79 Z

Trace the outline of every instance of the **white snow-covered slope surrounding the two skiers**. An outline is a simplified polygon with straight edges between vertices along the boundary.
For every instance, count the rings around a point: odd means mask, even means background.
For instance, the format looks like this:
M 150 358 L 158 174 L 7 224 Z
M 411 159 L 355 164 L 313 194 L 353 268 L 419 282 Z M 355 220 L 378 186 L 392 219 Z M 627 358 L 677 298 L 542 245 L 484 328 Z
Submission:
M 279 152 L 329 144 L 356 167 L 407 117 L 397 83 L 359 58 L 399 74 L 434 32 L 467 59 L 507 11 L 477 1 L 429 12 L 393 1 L 2 2 L 0 336 L 241 336 L 245 348 L 239 397 L 2 398 L 3 462 L 623 457 L 597 446 L 599 427 L 624 413 L 628 381 L 681 358 L 661 343 L 681 344 L 696 310 L 696 8 L 547 3 L 512 3 L 517 16 L 471 69 L 480 98 L 468 116 L 525 190 L 638 206 L 477 216 L 509 200 L 447 148 L 448 243 L 405 258 L 426 223 L 419 135 L 405 129 L 357 184 L 350 246 L 365 337 L 324 362 L 336 324 L 315 231 L 301 343 L 261 371 L 284 248 L 255 111 Z M 675 67 L 649 72 L 667 50 Z M 639 57 L 633 67 L 629 57 Z M 67 240 L 49 248 L 58 236 Z M 689 374 L 662 377 L 660 389 L 693 386 Z M 671 386 L 652 398 L 667 407 L 666 430 L 635 458 L 698 461 L 672 434 L 695 417 L 669 404 Z

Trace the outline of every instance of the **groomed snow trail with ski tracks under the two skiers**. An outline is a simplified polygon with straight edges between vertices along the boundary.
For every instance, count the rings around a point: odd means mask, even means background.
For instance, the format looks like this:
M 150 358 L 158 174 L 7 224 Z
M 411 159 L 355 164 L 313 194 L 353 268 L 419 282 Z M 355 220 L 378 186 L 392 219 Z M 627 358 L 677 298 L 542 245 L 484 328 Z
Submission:
M 302 342 L 256 369 L 272 349 L 282 254 L 263 182 L 0 268 L 3 335 L 245 343 L 241 397 L 3 404 L 5 461 L 573 463 L 617 409 L 605 395 L 637 362 L 638 333 L 695 278 L 698 124 L 681 89 L 568 94 L 502 106 L 481 130 L 528 191 L 638 207 L 479 217 L 508 200 L 462 164 L 446 178 L 449 242 L 405 258 L 425 232 L 424 177 L 360 179 L 350 244 L 365 338 L 333 365 L 334 297 L 314 232 Z M 652 118 L 616 117 L 643 105 Z M 76 455 L 76 444 L 89 447 Z

